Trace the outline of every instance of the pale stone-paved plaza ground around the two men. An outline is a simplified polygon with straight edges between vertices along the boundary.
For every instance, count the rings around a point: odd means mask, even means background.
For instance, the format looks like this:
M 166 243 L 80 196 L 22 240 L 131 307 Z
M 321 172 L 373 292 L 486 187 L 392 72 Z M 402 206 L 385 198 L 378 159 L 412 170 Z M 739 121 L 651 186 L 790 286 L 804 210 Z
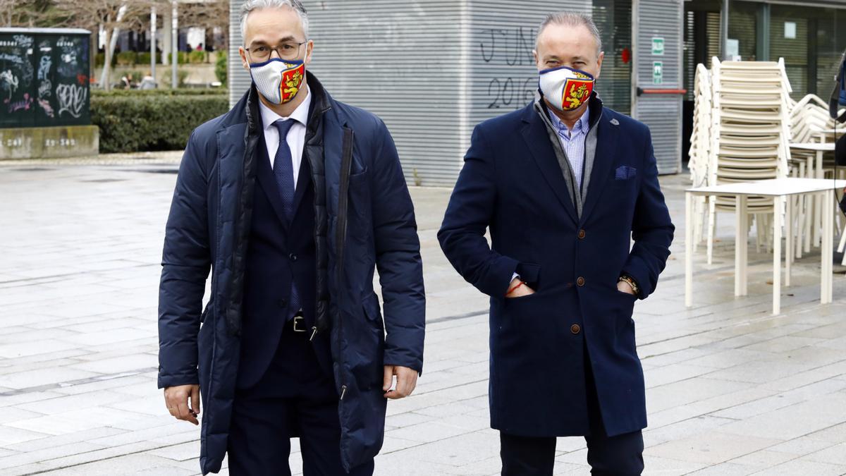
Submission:
M 0 474 L 199 473 L 199 429 L 165 410 L 157 287 L 178 153 L 0 164 Z M 846 276 L 819 303 L 819 251 L 794 266 L 771 316 L 772 258 L 750 240 L 749 296 L 733 296 L 733 216 L 715 261 L 695 257 L 684 307 L 685 176 L 662 177 L 677 238 L 657 291 L 634 307 L 645 368 L 646 474 L 846 474 Z M 428 296 L 415 394 L 388 404 L 376 474 L 492 475 L 487 302 L 437 245 L 448 201 L 412 190 Z M 539 385 L 542 383 L 539 382 Z M 301 473 L 298 446 L 291 466 Z M 562 438 L 557 474 L 587 474 Z M 226 473 L 224 469 L 222 473 Z

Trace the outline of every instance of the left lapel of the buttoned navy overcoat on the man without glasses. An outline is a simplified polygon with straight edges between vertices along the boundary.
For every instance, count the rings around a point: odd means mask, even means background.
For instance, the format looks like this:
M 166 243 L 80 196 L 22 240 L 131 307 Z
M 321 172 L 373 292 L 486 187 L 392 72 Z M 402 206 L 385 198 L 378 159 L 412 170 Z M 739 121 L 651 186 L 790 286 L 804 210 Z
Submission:
M 558 196 L 558 201 L 567 210 L 570 218 L 578 222 L 575 206 L 567 189 L 567 182 L 564 180 L 561 166 L 558 165 L 558 158 L 555 157 L 552 144 L 549 143 L 547 126 L 538 117 L 533 105 L 525 109 L 523 121 L 525 123 L 521 131 L 523 139 L 529 148 L 529 152 L 531 152 L 532 158 L 535 159 L 538 169 L 541 169 L 541 175 L 547 180 L 547 184 L 552 187 L 552 191 Z

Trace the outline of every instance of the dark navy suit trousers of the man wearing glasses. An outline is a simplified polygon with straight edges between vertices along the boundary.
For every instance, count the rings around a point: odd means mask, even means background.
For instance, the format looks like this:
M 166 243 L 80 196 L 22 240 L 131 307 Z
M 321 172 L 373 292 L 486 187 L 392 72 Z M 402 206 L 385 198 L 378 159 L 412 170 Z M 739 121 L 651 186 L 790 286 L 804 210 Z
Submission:
M 302 324 L 300 324 L 302 326 Z M 285 324 L 276 355 L 256 385 L 236 390 L 229 427 L 229 474 L 290 476 L 292 437 L 299 436 L 305 476 L 343 476 L 338 393 L 317 361 L 310 332 Z M 369 476 L 373 461 L 352 468 Z

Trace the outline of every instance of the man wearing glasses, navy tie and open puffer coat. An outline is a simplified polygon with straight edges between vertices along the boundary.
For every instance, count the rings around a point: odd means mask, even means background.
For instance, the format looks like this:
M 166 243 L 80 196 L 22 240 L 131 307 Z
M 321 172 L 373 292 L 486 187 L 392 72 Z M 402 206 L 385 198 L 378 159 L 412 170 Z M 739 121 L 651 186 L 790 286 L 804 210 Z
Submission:
M 290 474 L 294 436 L 305 474 L 371 474 L 387 399 L 423 364 L 414 207 L 382 120 L 306 73 L 299 0 L 247 0 L 241 32 L 250 91 L 193 132 L 179 169 L 158 385 L 194 424 L 202 396 L 204 474 L 226 453 L 233 475 Z

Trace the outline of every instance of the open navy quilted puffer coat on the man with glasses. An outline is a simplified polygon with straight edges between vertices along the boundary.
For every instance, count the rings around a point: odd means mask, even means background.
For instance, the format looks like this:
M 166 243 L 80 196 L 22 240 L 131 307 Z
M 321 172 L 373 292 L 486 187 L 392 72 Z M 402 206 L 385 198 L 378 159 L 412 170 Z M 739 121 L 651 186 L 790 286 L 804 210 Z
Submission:
M 331 332 L 341 458 L 353 468 L 382 447 L 382 365 L 422 371 L 420 241 L 396 147 L 382 120 L 337 102 L 313 75 L 304 160 L 315 187 L 316 318 Z M 250 88 L 190 136 L 162 257 L 158 386 L 199 384 L 202 472 L 227 448 L 238 372 L 244 261 L 250 239 L 258 97 Z M 379 270 L 384 320 L 373 291 Z M 202 297 L 211 269 L 211 295 Z

